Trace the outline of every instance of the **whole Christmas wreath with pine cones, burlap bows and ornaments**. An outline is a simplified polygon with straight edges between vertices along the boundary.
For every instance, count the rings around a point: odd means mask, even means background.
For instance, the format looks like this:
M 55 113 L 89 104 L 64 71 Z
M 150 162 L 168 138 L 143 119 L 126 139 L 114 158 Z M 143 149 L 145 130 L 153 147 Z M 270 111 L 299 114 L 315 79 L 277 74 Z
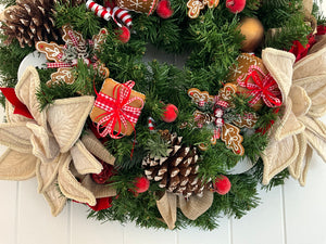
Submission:
M 301 0 L 1 0 L 0 179 L 54 216 L 203 229 L 326 160 L 326 28 Z M 146 61 L 152 47 L 184 67 Z

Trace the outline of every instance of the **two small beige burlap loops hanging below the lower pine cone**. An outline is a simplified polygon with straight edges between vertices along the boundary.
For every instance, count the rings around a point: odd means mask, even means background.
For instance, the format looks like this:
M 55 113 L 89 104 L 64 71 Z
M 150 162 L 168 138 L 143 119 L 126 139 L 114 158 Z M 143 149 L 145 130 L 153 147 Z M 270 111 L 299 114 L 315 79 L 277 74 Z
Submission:
M 205 190 L 202 197 L 190 196 L 189 200 L 185 200 L 181 195 L 165 191 L 164 195 L 156 201 L 156 206 L 168 229 L 173 230 L 175 228 L 177 207 L 181 209 L 188 219 L 195 220 L 212 206 L 213 194 L 213 192 Z

